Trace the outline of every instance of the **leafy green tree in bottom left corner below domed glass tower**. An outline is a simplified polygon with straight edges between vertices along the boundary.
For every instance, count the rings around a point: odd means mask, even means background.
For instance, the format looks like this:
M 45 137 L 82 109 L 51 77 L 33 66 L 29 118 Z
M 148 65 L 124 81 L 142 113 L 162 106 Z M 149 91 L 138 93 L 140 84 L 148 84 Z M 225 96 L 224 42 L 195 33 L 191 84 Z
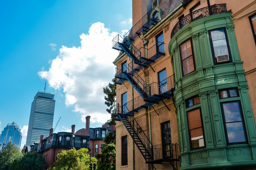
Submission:
M 8 142 L 2 152 L 0 152 L 0 169 L 8 170 L 12 167 L 14 161 L 18 161 L 22 158 L 22 154 L 19 148 Z

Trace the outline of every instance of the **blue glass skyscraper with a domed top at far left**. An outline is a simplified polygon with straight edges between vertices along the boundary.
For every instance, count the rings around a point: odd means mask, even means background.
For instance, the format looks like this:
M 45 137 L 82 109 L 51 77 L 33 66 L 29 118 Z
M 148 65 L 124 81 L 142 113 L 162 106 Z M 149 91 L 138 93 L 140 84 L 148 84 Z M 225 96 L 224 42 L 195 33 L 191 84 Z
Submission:
M 0 151 L 2 151 L 3 147 L 7 145 L 8 142 L 12 142 L 12 144 L 20 148 L 21 138 L 22 136 L 18 124 L 15 122 L 7 124 L 0 135 Z

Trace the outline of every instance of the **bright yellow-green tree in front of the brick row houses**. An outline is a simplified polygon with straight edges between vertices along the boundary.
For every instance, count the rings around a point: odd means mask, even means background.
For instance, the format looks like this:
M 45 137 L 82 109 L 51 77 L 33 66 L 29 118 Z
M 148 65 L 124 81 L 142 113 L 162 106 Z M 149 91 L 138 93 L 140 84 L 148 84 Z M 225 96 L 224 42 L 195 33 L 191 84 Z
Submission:
M 89 170 L 90 155 L 87 152 L 86 148 L 62 151 L 57 155 L 56 165 L 50 166 L 48 170 Z M 91 162 L 97 162 L 97 159 L 92 157 Z

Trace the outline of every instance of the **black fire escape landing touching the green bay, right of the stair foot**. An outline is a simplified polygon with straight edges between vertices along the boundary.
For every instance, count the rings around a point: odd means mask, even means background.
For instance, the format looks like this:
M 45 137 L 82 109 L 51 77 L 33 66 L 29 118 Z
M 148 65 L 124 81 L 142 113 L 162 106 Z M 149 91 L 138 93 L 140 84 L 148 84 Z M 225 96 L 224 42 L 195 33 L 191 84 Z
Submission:
M 144 98 L 146 102 L 159 103 L 163 99 L 169 99 L 174 91 L 173 75 L 163 81 L 149 84 L 148 87 L 144 88 L 144 91 L 148 94 L 148 97 Z

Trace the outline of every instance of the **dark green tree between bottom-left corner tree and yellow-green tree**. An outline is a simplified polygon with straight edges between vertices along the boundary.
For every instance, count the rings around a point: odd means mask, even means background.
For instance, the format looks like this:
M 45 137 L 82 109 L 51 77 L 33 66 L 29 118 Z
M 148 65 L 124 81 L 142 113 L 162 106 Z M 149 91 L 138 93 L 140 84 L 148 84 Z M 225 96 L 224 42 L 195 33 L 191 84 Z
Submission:
M 14 161 L 10 170 L 43 170 L 44 158 L 37 152 L 26 153 L 19 161 Z

